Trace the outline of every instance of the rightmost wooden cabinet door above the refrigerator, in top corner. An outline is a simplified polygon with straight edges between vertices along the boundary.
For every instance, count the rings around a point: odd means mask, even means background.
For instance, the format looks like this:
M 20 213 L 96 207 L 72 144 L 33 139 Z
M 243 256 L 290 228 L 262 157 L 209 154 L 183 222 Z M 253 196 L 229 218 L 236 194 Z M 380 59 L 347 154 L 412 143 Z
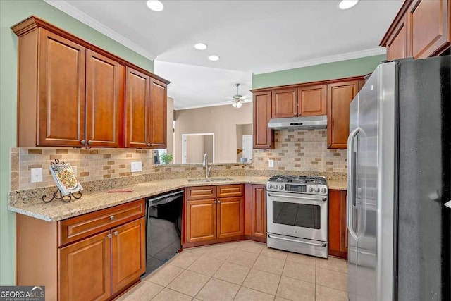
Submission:
M 407 8 L 409 56 L 422 59 L 438 55 L 450 46 L 450 1 L 415 0 Z

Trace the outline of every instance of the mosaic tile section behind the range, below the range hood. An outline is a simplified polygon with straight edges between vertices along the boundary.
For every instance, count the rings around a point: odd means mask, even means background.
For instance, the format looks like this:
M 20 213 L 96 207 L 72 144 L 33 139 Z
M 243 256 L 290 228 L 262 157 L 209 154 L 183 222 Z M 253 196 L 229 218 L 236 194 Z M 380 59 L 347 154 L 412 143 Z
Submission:
M 255 169 L 347 172 L 347 150 L 327 148 L 327 130 L 283 130 L 274 133 L 274 149 L 254 149 Z

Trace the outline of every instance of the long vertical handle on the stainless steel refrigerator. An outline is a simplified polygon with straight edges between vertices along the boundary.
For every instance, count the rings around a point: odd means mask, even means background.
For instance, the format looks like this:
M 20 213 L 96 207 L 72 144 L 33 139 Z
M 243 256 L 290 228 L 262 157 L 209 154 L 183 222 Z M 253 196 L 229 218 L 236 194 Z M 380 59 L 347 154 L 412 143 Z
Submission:
M 354 139 L 360 132 L 360 128 L 354 128 L 347 138 L 347 163 L 348 163 L 348 179 L 347 179 L 347 230 L 354 240 L 357 240 L 357 235 L 352 228 L 352 204 L 354 203 L 355 193 L 355 175 L 354 165 L 356 164 L 354 158 Z

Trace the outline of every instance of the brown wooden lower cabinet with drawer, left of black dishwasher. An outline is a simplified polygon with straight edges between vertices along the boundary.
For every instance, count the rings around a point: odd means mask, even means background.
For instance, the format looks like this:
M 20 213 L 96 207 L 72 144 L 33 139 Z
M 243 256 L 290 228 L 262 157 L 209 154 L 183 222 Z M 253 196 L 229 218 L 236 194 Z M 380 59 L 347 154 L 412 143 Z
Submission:
M 45 285 L 46 300 L 117 297 L 146 270 L 144 208 L 140 199 L 52 222 L 17 214 L 16 284 Z

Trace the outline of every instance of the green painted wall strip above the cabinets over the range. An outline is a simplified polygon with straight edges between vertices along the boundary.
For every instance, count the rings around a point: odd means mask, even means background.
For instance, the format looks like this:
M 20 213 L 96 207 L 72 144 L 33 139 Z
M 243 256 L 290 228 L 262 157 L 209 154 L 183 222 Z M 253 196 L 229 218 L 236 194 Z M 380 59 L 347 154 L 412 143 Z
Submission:
M 385 60 L 385 54 L 271 73 L 254 74 L 252 75 L 252 89 L 365 75 L 373 72 L 383 60 Z

